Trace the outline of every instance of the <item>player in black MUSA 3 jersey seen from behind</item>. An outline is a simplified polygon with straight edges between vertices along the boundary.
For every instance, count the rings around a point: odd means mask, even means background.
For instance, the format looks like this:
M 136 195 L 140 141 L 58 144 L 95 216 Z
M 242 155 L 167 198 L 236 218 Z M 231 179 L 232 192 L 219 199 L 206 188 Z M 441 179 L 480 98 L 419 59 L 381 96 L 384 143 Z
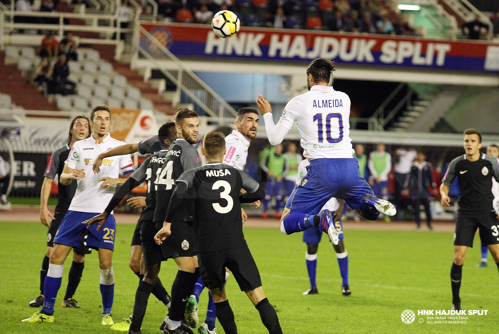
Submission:
M 194 200 L 194 233 L 203 282 L 215 301 L 217 317 L 226 334 L 237 334 L 234 313 L 225 293 L 226 267 L 234 274 L 260 314 L 269 334 L 282 334 L 274 308 L 261 286 L 258 268 L 243 234 L 241 204 L 262 199 L 265 192 L 248 174 L 222 164 L 225 138 L 220 132 L 207 133 L 202 153 L 207 164 L 184 172 L 176 180 L 163 228 L 154 239 L 168 242 L 175 229 L 175 211 L 186 200 Z M 241 188 L 247 192 L 241 194 Z M 172 234 L 173 235 L 173 234 Z M 166 238 L 166 240 L 165 240 Z

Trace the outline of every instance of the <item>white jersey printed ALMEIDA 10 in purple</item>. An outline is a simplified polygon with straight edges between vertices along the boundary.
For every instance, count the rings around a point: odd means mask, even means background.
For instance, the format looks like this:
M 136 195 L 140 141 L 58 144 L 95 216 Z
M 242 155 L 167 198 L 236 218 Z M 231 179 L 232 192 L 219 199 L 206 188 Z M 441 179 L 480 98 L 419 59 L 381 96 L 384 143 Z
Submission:
M 296 122 L 303 155 L 308 159 L 352 158 L 349 117 L 347 94 L 314 85 L 286 104 L 279 123 L 289 130 Z

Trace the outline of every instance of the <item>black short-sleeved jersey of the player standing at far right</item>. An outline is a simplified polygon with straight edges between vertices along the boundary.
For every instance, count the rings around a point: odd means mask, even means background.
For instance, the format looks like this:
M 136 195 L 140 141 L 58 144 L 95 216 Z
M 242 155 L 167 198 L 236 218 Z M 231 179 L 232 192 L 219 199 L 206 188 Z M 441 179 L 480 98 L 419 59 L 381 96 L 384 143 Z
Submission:
M 458 178 L 459 212 L 469 214 L 490 214 L 493 210 L 492 178 L 499 181 L 499 164 L 496 158 L 485 153 L 477 161 L 470 161 L 466 154 L 452 160 L 443 183 L 451 185 Z

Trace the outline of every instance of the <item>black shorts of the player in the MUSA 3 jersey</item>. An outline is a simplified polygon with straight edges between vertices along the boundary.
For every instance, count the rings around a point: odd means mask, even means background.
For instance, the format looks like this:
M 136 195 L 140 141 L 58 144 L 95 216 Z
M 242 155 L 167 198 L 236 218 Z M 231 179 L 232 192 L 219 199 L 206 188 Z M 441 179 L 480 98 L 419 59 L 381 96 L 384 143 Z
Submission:
M 248 246 L 218 252 L 198 253 L 199 271 L 208 289 L 222 289 L 225 267 L 229 268 L 241 291 L 261 287 L 260 273 Z

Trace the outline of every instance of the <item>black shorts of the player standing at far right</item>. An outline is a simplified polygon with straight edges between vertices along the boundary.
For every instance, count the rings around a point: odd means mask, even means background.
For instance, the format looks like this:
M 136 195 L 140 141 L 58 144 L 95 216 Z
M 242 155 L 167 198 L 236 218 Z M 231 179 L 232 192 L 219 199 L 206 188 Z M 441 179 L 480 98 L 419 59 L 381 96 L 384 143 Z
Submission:
M 473 247 L 473 239 L 477 228 L 480 230 L 482 245 L 499 244 L 498 220 L 494 212 L 477 216 L 458 214 L 456 232 L 454 233 L 455 246 Z

